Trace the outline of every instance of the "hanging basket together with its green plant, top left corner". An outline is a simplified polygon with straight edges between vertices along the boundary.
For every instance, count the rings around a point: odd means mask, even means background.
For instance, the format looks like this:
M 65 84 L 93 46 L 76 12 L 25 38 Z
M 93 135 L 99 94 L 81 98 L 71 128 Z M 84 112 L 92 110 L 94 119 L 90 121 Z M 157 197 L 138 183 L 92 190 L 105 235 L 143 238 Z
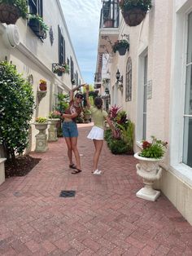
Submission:
M 26 19 L 28 7 L 26 0 L 0 0 L 0 22 L 15 24 L 22 17 Z

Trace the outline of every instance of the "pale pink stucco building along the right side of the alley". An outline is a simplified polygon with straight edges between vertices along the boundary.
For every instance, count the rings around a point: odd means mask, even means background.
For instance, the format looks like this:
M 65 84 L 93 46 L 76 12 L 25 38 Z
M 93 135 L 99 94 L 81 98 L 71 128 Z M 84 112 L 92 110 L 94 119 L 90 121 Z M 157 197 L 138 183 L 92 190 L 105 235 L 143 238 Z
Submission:
M 134 122 L 135 152 L 139 141 L 151 135 L 168 141 L 164 174 L 156 185 L 192 224 L 192 2 L 152 1 L 135 27 L 125 24 L 116 0 L 105 2 L 111 4 L 113 22 L 105 24 L 102 11 L 96 70 L 100 84 L 110 78 L 111 105 L 122 106 Z M 121 38 L 129 38 L 125 55 L 112 52 Z M 123 90 L 116 82 L 118 69 Z

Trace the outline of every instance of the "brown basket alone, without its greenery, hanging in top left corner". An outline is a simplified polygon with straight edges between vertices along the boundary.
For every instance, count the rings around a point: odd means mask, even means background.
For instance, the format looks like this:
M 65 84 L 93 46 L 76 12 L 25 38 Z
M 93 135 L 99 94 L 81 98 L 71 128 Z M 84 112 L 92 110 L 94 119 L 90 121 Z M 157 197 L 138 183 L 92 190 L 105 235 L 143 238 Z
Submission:
M 11 4 L 0 3 L 0 22 L 15 24 L 20 18 L 20 11 Z

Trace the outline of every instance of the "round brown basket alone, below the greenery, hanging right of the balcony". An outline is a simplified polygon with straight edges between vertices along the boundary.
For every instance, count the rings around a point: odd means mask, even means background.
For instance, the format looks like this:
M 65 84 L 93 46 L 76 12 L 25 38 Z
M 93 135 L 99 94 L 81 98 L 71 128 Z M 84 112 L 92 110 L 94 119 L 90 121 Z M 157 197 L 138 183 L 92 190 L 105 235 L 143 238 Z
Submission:
M 140 8 L 132 8 L 129 11 L 121 11 L 124 21 L 126 24 L 128 24 L 130 27 L 137 26 L 142 22 L 142 20 L 145 19 L 146 11 L 140 9 Z

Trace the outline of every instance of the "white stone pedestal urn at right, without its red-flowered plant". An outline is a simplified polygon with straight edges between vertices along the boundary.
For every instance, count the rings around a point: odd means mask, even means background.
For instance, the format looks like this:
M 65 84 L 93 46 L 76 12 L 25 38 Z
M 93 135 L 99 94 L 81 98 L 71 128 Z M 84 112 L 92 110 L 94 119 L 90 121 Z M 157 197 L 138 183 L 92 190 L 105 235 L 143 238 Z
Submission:
M 162 168 L 159 167 L 159 162 L 162 159 L 140 157 L 139 152 L 134 154 L 134 157 L 139 161 L 136 165 L 137 174 L 142 177 L 144 188 L 140 189 L 136 196 L 149 201 L 155 201 L 160 195 L 159 191 L 153 189 L 153 183 L 159 179 L 162 174 Z

